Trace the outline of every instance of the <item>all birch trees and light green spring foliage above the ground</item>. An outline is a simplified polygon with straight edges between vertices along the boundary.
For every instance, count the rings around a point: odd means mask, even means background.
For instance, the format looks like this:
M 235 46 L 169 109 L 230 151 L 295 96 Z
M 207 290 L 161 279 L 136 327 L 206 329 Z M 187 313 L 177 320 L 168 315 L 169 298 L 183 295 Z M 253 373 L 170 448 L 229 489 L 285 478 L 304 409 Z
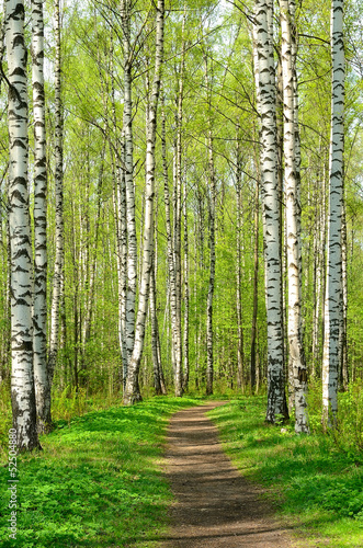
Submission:
M 20 447 L 68 389 L 265 391 L 269 422 L 295 409 L 308 432 L 321 381 L 333 425 L 362 380 L 363 4 L 1 3 L 0 381 Z

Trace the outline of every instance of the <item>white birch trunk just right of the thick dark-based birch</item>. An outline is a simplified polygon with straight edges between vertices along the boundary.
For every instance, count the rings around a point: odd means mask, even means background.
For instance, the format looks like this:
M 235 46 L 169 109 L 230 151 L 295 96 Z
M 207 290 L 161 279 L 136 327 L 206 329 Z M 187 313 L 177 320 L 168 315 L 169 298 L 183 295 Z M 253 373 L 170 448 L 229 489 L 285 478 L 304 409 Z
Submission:
M 292 362 L 295 393 L 295 432 L 309 432 L 307 419 L 307 372 L 302 336 L 302 267 L 299 141 L 296 139 L 294 95 L 295 4 L 280 0 L 282 31 L 282 71 L 284 91 L 284 156 L 288 281 L 288 356 Z

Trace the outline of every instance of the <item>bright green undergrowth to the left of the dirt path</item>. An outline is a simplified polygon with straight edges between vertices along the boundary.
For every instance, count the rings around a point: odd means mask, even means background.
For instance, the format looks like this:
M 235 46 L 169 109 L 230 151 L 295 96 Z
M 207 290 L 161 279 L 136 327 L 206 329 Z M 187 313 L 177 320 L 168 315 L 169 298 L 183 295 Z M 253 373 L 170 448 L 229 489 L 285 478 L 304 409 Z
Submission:
M 60 420 L 43 450 L 18 457 L 18 535 L 9 539 L 9 492 L 0 501 L 3 548 L 151 547 L 171 493 L 160 471 L 168 419 L 192 398 L 154 398 Z M 0 483 L 8 484 L 8 468 Z

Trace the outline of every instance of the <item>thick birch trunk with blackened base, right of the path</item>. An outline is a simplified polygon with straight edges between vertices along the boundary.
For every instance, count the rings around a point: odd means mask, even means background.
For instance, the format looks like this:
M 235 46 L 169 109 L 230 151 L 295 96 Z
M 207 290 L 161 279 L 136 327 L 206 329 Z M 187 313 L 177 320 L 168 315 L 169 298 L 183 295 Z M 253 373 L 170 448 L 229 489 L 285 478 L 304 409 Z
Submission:
M 275 75 L 269 22 L 271 0 L 257 0 L 257 53 L 259 112 L 261 114 L 262 215 L 264 225 L 265 295 L 268 312 L 268 410 L 266 421 L 287 416 L 284 384 L 281 229 L 276 151 Z

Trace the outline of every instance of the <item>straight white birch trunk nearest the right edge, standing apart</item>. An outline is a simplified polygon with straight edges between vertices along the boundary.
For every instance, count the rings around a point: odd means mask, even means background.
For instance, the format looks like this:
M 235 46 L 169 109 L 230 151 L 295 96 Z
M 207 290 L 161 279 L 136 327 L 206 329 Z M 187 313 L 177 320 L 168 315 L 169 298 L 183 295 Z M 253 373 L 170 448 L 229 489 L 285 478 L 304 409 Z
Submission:
M 336 424 L 338 412 L 338 373 L 341 356 L 339 330 L 342 317 L 343 151 L 344 151 L 344 43 L 343 0 L 331 3 L 331 136 L 329 165 L 328 259 L 325 301 L 322 359 L 322 423 Z

